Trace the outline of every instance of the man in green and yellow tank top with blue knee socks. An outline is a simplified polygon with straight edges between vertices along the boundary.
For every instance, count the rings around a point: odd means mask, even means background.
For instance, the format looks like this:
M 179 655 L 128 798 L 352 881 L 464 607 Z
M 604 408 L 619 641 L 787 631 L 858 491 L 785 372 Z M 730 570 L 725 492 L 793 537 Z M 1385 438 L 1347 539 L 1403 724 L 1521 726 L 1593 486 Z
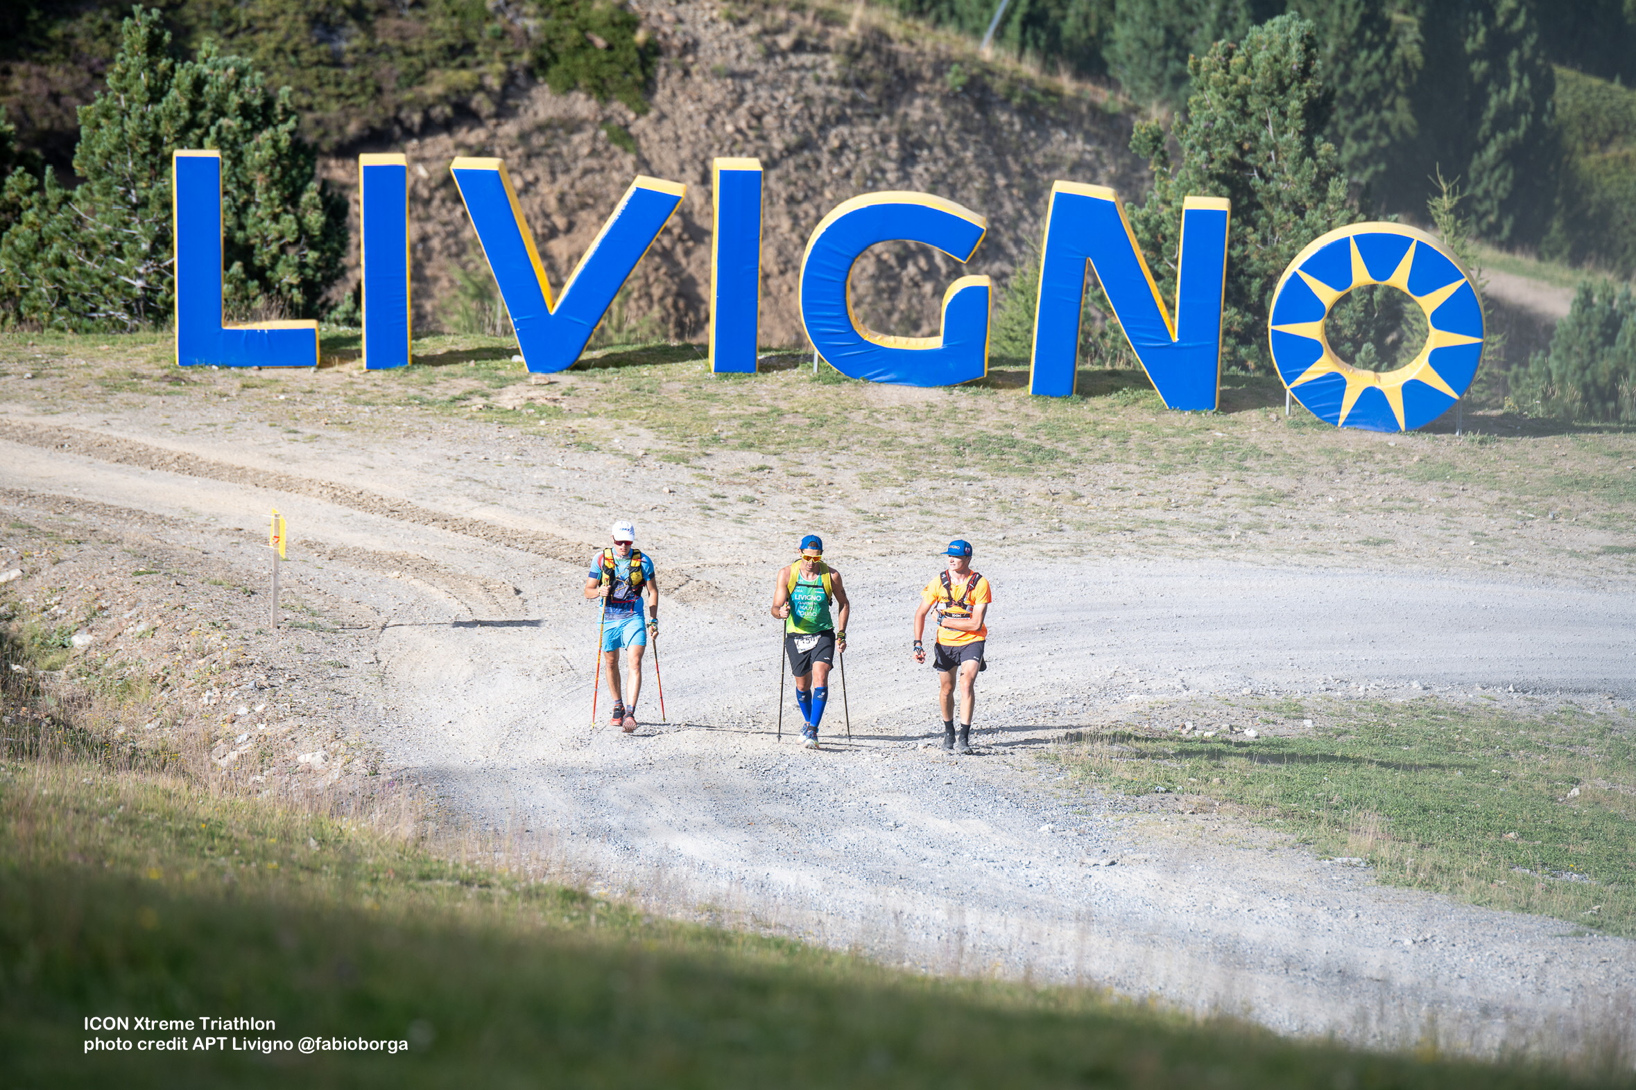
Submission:
M 838 606 L 839 623 L 829 616 Z M 841 572 L 823 562 L 823 539 L 802 538 L 802 559 L 779 569 L 772 585 L 772 616 L 784 619 L 784 652 L 795 675 L 795 703 L 802 708 L 802 737 L 807 748 L 818 748 L 818 724 L 829 699 L 829 667 L 838 650 L 846 650 L 846 619 L 852 603 L 841 585 Z

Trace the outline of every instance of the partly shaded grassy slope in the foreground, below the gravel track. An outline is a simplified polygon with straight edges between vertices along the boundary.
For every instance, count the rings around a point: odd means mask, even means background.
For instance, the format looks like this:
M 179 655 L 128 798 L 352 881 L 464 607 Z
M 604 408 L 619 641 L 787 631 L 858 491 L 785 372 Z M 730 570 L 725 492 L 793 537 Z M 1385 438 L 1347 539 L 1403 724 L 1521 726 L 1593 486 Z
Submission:
M 87 1015 L 255 1016 L 407 1056 L 97 1052 Z M 187 1034 L 187 1036 L 198 1036 Z M 1073 989 L 941 981 L 645 917 L 365 820 L 0 768 L 0 1049 L 25 1087 L 1507 1087 Z

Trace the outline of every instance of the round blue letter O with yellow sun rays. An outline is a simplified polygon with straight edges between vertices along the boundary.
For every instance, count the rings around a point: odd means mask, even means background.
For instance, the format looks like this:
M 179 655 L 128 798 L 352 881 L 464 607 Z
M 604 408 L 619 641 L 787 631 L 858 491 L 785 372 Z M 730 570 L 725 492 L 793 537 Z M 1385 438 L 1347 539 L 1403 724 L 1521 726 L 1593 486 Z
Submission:
M 1324 320 L 1353 288 L 1389 284 L 1412 297 L 1430 333 L 1396 371 L 1355 368 L 1328 345 Z M 1400 224 L 1353 224 L 1296 255 L 1268 314 L 1273 366 L 1314 417 L 1338 428 L 1412 431 L 1459 400 L 1482 363 L 1482 306 L 1441 242 Z

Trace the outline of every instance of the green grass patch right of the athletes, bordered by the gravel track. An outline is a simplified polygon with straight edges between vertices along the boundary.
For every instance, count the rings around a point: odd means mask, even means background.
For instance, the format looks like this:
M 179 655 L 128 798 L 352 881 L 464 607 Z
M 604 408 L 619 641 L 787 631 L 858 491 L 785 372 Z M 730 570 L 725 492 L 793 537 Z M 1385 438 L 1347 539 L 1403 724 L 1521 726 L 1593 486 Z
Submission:
M 1276 737 L 1106 730 L 1057 760 L 1114 791 L 1237 804 L 1320 853 L 1368 860 L 1386 882 L 1636 935 L 1628 713 L 1432 698 L 1238 713 L 1237 726 L 1273 722 Z M 1302 729 L 1306 717 L 1317 726 Z

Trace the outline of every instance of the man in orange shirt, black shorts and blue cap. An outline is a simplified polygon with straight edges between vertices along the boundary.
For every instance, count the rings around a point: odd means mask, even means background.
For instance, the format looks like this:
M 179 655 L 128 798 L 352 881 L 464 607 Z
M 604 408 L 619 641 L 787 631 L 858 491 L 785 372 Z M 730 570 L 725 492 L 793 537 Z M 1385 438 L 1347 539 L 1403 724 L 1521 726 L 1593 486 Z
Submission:
M 933 667 L 937 670 L 937 711 L 942 713 L 942 748 L 972 752 L 972 713 L 977 708 L 977 673 L 983 670 L 988 626 L 983 618 L 993 601 L 988 580 L 972 570 L 972 543 L 951 541 L 944 551 L 949 570 L 926 583 L 915 611 L 915 662 L 926 662 L 921 634 L 926 614 L 937 611 L 937 642 Z M 954 737 L 954 686 L 960 685 L 960 739 Z

